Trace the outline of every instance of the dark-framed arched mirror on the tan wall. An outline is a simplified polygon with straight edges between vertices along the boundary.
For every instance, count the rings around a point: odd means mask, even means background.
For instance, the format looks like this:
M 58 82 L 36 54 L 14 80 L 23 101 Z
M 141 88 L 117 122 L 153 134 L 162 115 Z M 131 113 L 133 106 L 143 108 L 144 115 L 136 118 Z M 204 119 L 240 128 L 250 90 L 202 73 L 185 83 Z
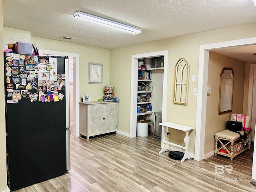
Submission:
M 234 71 L 223 68 L 220 73 L 219 115 L 232 112 Z

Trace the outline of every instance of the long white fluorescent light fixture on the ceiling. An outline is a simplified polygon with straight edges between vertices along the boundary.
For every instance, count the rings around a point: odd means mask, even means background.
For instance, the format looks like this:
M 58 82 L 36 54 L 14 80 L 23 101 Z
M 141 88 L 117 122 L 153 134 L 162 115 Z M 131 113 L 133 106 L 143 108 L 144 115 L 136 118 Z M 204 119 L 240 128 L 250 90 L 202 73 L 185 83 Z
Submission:
M 129 25 L 125 25 L 125 24 L 122 24 L 122 23 L 118 23 L 118 22 L 115 22 L 115 21 L 111 21 L 111 20 L 101 18 L 101 17 L 98 17 L 98 16 L 90 15 L 88 13 L 83 13 L 83 12 L 77 11 L 77 12 L 73 13 L 73 16 L 76 17 L 76 18 L 84 19 L 86 21 L 90 21 L 90 22 L 94 22 L 94 23 L 101 24 L 101 25 L 104 25 L 104 26 L 108 26 L 108 27 L 112 27 L 112 28 L 115 28 L 115 29 L 120 29 L 120 30 L 123 30 L 123 31 L 126 31 L 126 32 L 130 32 L 134 35 L 141 33 L 141 29 L 139 29 L 139 28 L 132 27 L 132 26 L 129 26 Z

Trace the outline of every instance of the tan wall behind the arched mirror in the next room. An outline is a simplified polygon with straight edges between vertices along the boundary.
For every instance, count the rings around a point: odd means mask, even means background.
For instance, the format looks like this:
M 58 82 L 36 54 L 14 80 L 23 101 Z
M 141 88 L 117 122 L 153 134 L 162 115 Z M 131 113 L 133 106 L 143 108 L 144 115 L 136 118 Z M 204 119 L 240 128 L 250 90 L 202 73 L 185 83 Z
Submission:
M 244 70 L 245 62 L 224 56 L 215 52 L 209 52 L 208 86 L 212 87 L 212 93 L 207 95 L 206 127 L 204 154 L 214 150 L 214 134 L 226 129 L 226 121 L 230 120 L 230 113 L 218 115 L 220 72 L 222 68 L 234 70 L 234 94 L 232 112 L 242 113 L 244 97 Z

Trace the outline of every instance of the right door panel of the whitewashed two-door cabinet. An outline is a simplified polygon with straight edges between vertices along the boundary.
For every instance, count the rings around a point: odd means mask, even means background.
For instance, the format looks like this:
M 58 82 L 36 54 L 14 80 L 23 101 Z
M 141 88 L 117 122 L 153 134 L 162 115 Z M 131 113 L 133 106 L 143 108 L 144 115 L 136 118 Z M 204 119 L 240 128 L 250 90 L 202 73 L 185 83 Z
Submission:
M 104 130 L 116 130 L 116 116 L 117 116 L 117 105 L 109 104 L 105 105 L 104 111 Z

